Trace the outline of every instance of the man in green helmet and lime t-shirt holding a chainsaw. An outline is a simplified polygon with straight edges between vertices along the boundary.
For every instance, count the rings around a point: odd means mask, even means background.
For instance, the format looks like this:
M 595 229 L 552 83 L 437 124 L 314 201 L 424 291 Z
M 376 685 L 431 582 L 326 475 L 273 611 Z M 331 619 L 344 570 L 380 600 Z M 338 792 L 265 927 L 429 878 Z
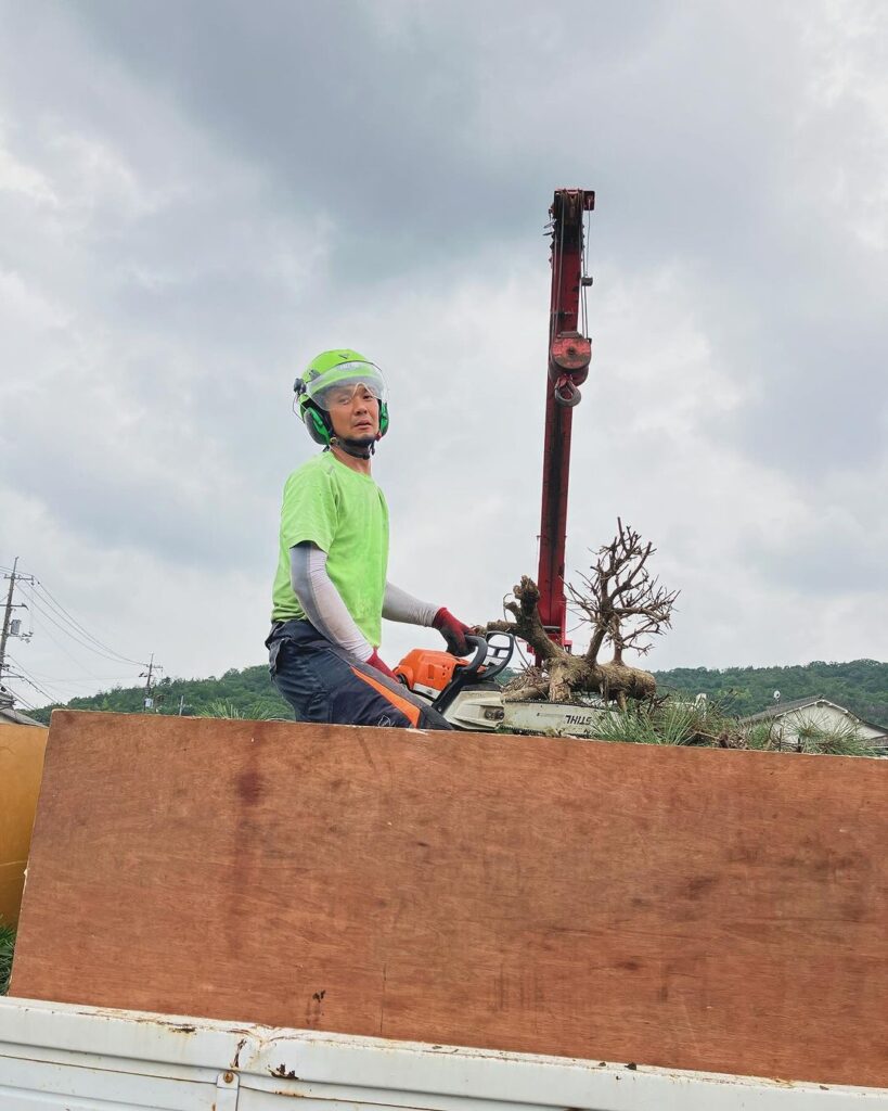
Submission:
M 379 368 L 351 349 L 323 351 L 294 390 L 324 450 L 284 487 L 272 630 L 272 679 L 301 721 L 450 729 L 379 654 L 382 618 L 437 629 L 456 655 L 467 625 L 386 581 L 389 508 L 371 477 L 389 430 Z

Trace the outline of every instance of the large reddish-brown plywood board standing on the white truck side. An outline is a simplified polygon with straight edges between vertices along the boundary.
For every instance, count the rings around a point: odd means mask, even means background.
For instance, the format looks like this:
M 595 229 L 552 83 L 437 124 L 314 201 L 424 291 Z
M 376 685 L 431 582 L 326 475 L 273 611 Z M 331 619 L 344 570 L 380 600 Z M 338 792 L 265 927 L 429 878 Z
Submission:
M 888 761 L 57 711 L 20 997 L 888 1085 Z

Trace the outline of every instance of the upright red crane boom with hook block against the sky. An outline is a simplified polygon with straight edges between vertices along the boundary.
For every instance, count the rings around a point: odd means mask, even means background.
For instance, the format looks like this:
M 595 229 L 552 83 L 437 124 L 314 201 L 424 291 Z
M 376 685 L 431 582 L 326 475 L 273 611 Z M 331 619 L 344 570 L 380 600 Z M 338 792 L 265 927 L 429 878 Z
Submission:
M 546 436 L 543 446 L 543 511 L 539 521 L 539 617 L 552 640 L 566 644 L 564 547 L 567 534 L 567 482 L 571 427 L 578 386 L 586 380 L 592 342 L 578 330 L 581 291 L 592 279 L 583 273 L 584 219 L 595 208 L 589 189 L 557 189 L 552 201 L 552 299 L 548 327 Z M 537 660 L 537 663 L 539 661 Z

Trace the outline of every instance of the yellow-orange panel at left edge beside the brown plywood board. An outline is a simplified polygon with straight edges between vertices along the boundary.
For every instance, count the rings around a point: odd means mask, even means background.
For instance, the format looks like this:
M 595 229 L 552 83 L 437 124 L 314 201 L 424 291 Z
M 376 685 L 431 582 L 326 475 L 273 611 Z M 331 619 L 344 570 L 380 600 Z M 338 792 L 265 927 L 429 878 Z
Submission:
M 0 918 L 19 920 L 49 730 L 0 724 Z

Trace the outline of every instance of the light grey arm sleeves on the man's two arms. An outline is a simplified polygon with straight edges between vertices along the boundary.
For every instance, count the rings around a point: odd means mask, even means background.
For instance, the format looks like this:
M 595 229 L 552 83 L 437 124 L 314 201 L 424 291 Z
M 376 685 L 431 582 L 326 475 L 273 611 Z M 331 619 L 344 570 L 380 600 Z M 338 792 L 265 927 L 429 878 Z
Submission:
M 326 570 L 326 552 L 317 544 L 303 542 L 290 549 L 290 584 L 314 628 L 334 644 L 369 660 L 374 647 L 367 641 L 345 608 L 342 595 Z M 382 615 L 389 621 L 431 625 L 440 605 L 423 602 L 406 590 L 385 583 Z

